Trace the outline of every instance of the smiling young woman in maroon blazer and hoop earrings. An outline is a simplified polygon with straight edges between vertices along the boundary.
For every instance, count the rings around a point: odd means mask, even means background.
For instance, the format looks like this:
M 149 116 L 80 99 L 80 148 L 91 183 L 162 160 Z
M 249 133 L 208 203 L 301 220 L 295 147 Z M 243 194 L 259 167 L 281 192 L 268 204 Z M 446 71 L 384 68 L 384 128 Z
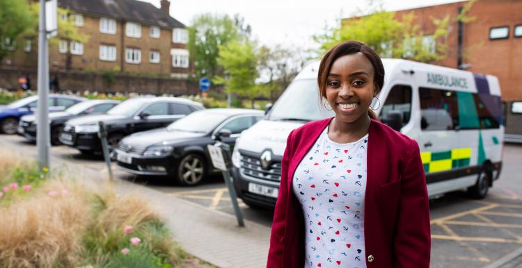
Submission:
M 429 267 L 418 144 L 370 106 L 383 87 L 381 59 L 342 42 L 322 58 L 317 82 L 335 117 L 287 138 L 267 267 Z

